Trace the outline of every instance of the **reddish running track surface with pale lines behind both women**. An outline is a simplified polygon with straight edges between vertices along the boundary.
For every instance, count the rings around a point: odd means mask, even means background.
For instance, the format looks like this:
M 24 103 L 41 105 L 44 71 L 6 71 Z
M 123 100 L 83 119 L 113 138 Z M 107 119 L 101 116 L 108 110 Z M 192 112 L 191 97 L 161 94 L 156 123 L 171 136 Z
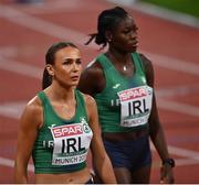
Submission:
M 57 41 L 74 42 L 84 66 L 98 54 L 84 46 L 96 31 L 104 0 L 45 0 L 39 4 L 0 2 L 0 183 L 13 183 L 18 119 L 41 89 L 44 54 Z M 128 9 L 139 26 L 139 52 L 154 63 L 157 104 L 176 183 L 199 183 L 199 30 Z M 153 146 L 153 145 L 151 145 Z M 151 183 L 159 182 L 160 160 L 153 152 Z M 29 179 L 33 183 L 32 163 Z

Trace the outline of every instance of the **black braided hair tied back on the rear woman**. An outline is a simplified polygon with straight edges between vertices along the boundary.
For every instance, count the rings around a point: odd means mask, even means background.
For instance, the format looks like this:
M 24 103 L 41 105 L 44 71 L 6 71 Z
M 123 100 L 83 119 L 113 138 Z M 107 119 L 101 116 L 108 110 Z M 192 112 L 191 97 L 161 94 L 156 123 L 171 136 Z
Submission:
M 95 39 L 95 43 L 97 45 L 103 44 L 101 48 L 104 48 L 107 45 L 106 31 L 113 31 L 117 23 L 127 15 L 128 13 L 121 7 L 102 11 L 97 20 L 97 33 L 90 34 L 90 40 L 85 45 L 88 45 Z

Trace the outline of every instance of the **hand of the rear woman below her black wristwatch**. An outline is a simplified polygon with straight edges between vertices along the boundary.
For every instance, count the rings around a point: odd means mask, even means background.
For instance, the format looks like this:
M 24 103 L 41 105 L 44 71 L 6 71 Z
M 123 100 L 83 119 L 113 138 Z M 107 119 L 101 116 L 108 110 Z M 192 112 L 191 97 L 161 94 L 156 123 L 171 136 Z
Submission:
M 172 167 L 169 164 L 165 164 L 160 168 L 160 184 L 174 184 Z

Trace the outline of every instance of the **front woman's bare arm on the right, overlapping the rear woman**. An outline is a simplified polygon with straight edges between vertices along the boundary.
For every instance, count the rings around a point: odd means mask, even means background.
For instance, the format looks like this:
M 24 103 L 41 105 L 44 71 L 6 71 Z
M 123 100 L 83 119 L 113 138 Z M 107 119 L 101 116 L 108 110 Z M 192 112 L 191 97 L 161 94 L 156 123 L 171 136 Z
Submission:
M 90 127 L 93 131 L 91 151 L 92 151 L 94 166 L 97 171 L 97 175 L 100 175 L 103 183 L 116 184 L 116 177 L 113 171 L 113 166 L 112 166 L 108 155 L 106 154 L 106 151 L 102 141 L 96 102 L 94 98 L 88 95 L 85 95 L 85 101 L 86 101 L 87 116 L 90 119 Z

